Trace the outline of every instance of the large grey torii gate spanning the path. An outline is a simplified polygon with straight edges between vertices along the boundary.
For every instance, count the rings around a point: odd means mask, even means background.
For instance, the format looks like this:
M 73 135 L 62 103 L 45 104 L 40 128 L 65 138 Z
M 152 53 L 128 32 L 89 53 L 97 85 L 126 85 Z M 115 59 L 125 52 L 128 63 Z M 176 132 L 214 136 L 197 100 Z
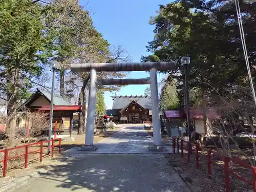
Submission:
M 182 57 L 185 65 L 190 62 L 189 57 Z M 182 60 L 181 60 L 182 61 Z M 184 63 L 181 63 L 184 65 Z M 151 84 L 151 100 L 152 100 L 152 119 L 153 119 L 153 139 L 154 146 L 160 147 L 162 144 L 160 114 L 159 114 L 159 98 L 157 89 L 157 70 L 175 70 L 179 67 L 179 63 L 170 62 L 120 62 L 120 63 L 72 63 L 72 72 L 91 72 L 89 85 L 89 105 L 86 124 L 86 141 L 83 149 L 96 150 L 93 144 L 94 136 L 94 119 L 96 107 L 97 85 L 109 84 Z M 99 72 L 117 72 L 117 71 L 150 71 L 150 79 L 97 79 L 97 71 Z

